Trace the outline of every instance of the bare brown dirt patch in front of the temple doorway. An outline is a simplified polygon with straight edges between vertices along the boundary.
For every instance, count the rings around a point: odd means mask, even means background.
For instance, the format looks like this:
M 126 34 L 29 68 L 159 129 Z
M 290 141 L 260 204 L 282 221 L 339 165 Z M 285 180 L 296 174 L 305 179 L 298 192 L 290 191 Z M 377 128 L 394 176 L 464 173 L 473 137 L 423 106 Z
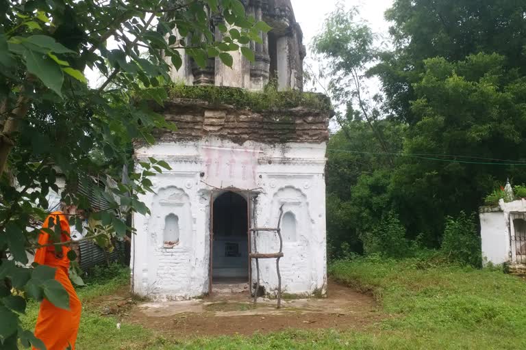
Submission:
M 372 297 L 329 282 L 327 298 L 284 300 L 224 295 L 190 301 L 140 302 L 123 288 L 92 301 L 101 314 L 114 314 L 123 323 L 155 329 L 171 338 L 216 336 L 295 329 L 361 329 L 383 319 Z

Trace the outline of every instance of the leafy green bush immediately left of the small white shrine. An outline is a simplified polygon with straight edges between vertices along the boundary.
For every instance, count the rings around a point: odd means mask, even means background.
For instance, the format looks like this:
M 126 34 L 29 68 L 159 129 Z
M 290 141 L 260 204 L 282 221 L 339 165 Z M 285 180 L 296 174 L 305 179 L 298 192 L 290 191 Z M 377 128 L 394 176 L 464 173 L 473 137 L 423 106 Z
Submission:
M 475 224 L 475 213 L 466 215 L 461 212 L 456 219 L 446 217 L 440 250 L 451 261 L 481 267 L 481 243 Z

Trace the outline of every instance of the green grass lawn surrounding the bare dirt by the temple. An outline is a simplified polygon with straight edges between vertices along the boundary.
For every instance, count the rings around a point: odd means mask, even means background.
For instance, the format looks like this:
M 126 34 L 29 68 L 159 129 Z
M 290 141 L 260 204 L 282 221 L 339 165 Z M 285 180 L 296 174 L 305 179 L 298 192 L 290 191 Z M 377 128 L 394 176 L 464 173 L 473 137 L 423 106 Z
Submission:
M 102 317 L 90 300 L 116 291 L 127 269 L 112 269 L 79 288 L 84 302 L 78 350 L 132 349 L 525 349 L 526 282 L 492 269 L 422 260 L 363 258 L 330 266 L 333 278 L 373 293 L 386 319 L 362 332 L 289 330 L 251 337 L 166 339 Z M 111 277 L 110 277 L 111 276 Z M 38 305 L 23 318 L 32 328 Z

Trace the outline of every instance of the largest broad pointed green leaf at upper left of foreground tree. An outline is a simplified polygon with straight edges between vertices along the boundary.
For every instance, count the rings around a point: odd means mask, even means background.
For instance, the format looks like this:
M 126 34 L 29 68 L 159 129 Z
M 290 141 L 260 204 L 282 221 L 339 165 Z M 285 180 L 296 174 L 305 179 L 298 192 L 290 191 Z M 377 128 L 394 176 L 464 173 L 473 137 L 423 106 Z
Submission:
M 64 75 L 60 66 L 53 59 L 31 50 L 25 51 L 24 58 L 27 71 L 36 75 L 44 85 L 62 97 L 61 90 L 62 83 L 64 83 Z

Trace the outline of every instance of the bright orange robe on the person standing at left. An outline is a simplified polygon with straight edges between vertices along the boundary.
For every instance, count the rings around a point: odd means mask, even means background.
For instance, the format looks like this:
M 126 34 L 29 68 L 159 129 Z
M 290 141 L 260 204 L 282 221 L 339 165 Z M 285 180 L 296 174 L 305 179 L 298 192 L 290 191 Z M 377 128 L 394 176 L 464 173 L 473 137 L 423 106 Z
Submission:
M 69 241 L 71 232 L 69 230 L 69 223 L 66 216 L 60 212 L 55 211 L 49 215 L 44 221 L 42 228 L 49 228 L 49 219 L 60 220 L 60 240 L 62 242 Z M 53 228 L 51 228 L 53 230 Z M 49 241 L 49 234 L 45 231 L 40 231 L 38 237 L 39 245 L 46 245 L 51 243 Z M 75 342 L 77 341 L 77 333 L 79 332 L 80 313 L 82 306 L 79 297 L 75 293 L 75 288 L 69 280 L 69 259 L 67 253 L 70 248 L 62 246 L 62 258 L 55 256 L 55 247 L 38 248 L 35 254 L 35 262 L 39 265 L 48 265 L 55 267 L 55 280 L 60 282 L 69 295 L 69 310 L 58 308 L 51 304 L 47 299 L 42 300 L 40 304 L 40 311 L 38 312 L 38 319 L 36 320 L 35 336 L 44 342 L 47 350 L 64 350 L 71 345 L 71 349 L 75 349 Z M 33 347 L 33 350 L 36 347 Z

